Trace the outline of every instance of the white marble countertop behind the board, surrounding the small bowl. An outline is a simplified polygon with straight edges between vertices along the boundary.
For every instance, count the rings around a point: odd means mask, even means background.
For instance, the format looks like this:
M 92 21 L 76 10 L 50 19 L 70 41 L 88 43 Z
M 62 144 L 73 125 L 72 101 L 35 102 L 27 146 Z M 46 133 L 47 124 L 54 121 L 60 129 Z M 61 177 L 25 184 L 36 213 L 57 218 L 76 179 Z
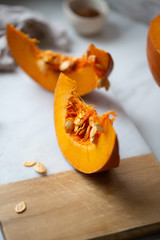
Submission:
M 40 1 L 37 5 L 37 1 L 29 1 L 25 5 L 63 23 L 71 39 L 72 54 L 81 56 L 90 42 L 112 54 L 115 67 L 110 76 L 111 88 L 160 161 L 160 88 L 147 63 L 148 26 L 110 11 L 102 34 L 85 38 L 70 26 L 62 14 L 61 2 Z

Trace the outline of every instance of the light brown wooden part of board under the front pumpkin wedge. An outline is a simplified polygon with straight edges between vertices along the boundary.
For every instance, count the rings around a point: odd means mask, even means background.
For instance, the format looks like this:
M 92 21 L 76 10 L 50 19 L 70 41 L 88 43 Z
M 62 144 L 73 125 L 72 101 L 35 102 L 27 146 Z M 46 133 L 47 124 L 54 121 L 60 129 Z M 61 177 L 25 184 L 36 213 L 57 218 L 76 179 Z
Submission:
M 27 210 L 17 214 L 17 203 Z M 85 175 L 67 171 L 0 186 L 7 240 L 132 239 L 160 231 L 160 164 L 153 154 Z

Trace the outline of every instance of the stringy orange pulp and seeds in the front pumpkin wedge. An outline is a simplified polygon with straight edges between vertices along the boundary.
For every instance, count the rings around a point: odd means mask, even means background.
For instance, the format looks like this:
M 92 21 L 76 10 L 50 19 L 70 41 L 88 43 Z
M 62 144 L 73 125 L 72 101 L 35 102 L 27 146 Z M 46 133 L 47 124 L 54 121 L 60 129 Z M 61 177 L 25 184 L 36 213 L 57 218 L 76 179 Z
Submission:
M 67 99 L 64 129 L 77 142 L 83 144 L 97 144 L 104 132 L 106 121 L 113 124 L 117 116 L 114 111 L 98 115 L 93 105 L 86 104 L 76 91 L 72 91 Z

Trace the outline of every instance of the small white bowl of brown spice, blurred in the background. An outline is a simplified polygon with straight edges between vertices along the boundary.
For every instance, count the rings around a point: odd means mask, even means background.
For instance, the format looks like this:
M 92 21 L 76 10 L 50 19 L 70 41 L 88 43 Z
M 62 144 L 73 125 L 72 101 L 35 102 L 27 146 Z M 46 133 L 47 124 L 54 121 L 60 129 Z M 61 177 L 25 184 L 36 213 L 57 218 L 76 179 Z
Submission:
M 95 17 L 82 17 L 76 11 L 82 8 L 91 8 L 99 13 Z M 109 12 L 108 4 L 104 0 L 66 0 L 63 9 L 75 30 L 82 35 L 99 33 L 106 22 Z

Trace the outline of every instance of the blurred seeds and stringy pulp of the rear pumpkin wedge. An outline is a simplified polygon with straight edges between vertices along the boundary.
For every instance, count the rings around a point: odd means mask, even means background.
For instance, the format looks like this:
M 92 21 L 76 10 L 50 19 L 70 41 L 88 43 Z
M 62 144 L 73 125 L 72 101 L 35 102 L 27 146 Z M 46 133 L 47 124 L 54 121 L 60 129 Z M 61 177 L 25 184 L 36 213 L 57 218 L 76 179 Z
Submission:
M 48 70 L 54 70 L 57 72 L 71 72 L 75 69 L 92 65 L 97 76 L 99 76 L 97 88 L 104 87 L 106 90 L 108 90 L 110 86 L 106 75 L 106 69 L 104 69 L 104 67 L 98 62 L 96 56 L 92 55 L 89 49 L 81 59 L 78 59 L 74 56 L 67 57 L 51 50 L 46 50 L 40 52 L 37 56 L 37 65 L 43 73 L 47 73 Z

